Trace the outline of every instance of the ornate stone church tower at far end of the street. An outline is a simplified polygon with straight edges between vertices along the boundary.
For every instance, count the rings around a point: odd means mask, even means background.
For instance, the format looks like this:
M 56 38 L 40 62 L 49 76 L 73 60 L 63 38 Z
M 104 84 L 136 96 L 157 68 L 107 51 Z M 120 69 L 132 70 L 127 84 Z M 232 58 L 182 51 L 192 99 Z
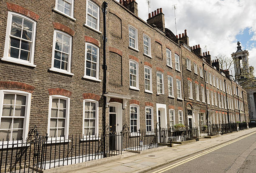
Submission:
M 234 61 L 234 68 L 235 68 L 235 77 L 239 83 L 243 81 L 246 76 L 245 73 L 250 73 L 249 63 L 248 63 L 248 50 L 241 49 L 241 43 L 237 42 L 237 50 L 235 53 L 232 53 L 231 56 Z

